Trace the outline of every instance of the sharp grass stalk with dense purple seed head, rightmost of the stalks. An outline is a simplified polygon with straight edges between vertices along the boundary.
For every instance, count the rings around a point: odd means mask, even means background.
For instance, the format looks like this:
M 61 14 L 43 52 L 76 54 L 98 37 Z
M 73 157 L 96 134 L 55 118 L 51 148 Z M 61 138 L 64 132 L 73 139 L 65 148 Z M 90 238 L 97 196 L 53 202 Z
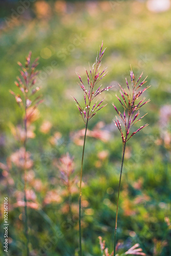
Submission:
M 130 76 L 131 76 L 132 90 L 130 90 L 129 84 L 126 80 L 128 92 L 126 92 L 125 89 L 122 89 L 122 87 L 119 84 L 122 100 L 117 95 L 116 95 L 116 97 L 118 98 L 120 104 L 122 105 L 122 108 L 124 109 L 123 114 L 121 114 L 120 111 L 117 110 L 116 106 L 113 103 L 115 111 L 117 112 L 117 114 L 124 126 L 124 128 L 122 129 L 121 123 L 119 122 L 119 120 L 116 116 L 116 120 L 114 120 L 114 122 L 115 122 L 115 125 L 118 127 L 119 132 L 121 133 L 123 153 L 122 153 L 122 163 L 121 163 L 121 170 L 120 170 L 117 206 L 116 206 L 116 221 L 115 221 L 115 232 L 114 232 L 114 256 L 116 255 L 116 233 L 117 233 L 117 221 L 118 221 L 119 193 L 120 193 L 120 185 L 121 185 L 121 178 L 122 178 L 122 168 L 123 168 L 126 142 L 130 138 L 132 138 L 137 132 L 139 132 L 140 130 L 142 130 L 144 127 L 146 127 L 148 125 L 148 124 L 145 124 L 143 126 L 140 126 L 140 128 L 136 132 L 133 132 L 130 135 L 131 127 L 138 121 L 141 121 L 141 119 L 146 115 L 145 114 L 144 116 L 137 119 L 140 114 L 139 109 L 141 108 L 141 106 L 143 106 L 144 104 L 149 102 L 149 100 L 144 102 L 144 100 L 145 100 L 145 97 L 144 97 L 143 99 L 141 99 L 139 101 L 139 103 L 137 103 L 137 99 L 146 91 L 146 89 L 149 88 L 149 86 L 147 86 L 143 90 L 141 90 L 141 87 L 143 86 L 143 84 L 146 83 L 146 78 L 141 83 L 139 83 L 139 81 L 142 77 L 142 74 L 143 73 L 141 73 L 140 77 L 136 81 L 134 73 L 131 69 Z

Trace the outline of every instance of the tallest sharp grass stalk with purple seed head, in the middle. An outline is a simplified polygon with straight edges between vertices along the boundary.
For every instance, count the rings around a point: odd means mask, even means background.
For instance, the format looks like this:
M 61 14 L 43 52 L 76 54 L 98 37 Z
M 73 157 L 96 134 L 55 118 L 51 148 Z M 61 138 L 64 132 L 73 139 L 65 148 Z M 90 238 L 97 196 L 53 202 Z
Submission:
M 86 126 L 85 133 L 84 133 L 84 142 L 83 142 L 83 148 L 82 148 L 82 159 L 81 159 L 81 171 L 80 171 L 80 186 L 79 186 L 79 254 L 82 256 L 82 243 L 81 243 L 81 195 L 82 195 L 82 170 L 83 170 L 83 158 L 84 158 L 84 150 L 86 145 L 86 134 L 88 129 L 88 122 L 89 120 L 99 111 L 102 109 L 105 105 L 100 106 L 103 102 L 101 100 L 99 103 L 97 101 L 94 103 L 94 105 L 91 108 L 92 100 L 99 94 L 101 94 L 104 91 L 108 91 L 111 87 L 101 88 L 102 85 L 98 87 L 97 90 L 94 90 L 95 86 L 99 81 L 106 75 L 104 69 L 102 72 L 99 71 L 99 68 L 101 66 L 101 60 L 104 55 L 105 49 L 102 50 L 103 42 L 100 48 L 100 52 L 98 57 L 96 57 L 96 61 L 93 64 L 92 70 L 90 69 L 90 72 L 86 70 L 87 79 L 88 79 L 88 90 L 86 90 L 86 87 L 84 86 L 84 83 L 81 80 L 81 77 L 78 75 L 80 83 L 79 86 L 82 89 L 84 93 L 84 103 L 85 106 L 82 108 L 82 106 L 78 103 L 78 101 L 74 98 L 76 101 L 77 108 L 80 112 L 80 115 L 82 117 L 82 120 Z M 100 107 L 100 108 L 99 108 Z

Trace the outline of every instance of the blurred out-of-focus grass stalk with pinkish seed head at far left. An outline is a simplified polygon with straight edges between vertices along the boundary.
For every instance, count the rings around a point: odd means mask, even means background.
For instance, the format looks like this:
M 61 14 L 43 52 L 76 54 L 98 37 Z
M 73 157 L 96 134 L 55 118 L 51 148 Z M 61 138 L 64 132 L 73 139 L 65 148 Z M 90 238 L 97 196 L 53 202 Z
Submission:
M 28 230 L 28 206 L 27 206 L 27 141 L 28 141 L 28 127 L 36 119 L 35 110 L 39 103 L 41 103 L 40 95 L 37 97 L 32 97 L 35 95 L 40 88 L 35 86 L 36 77 L 38 71 L 35 71 L 35 68 L 38 65 L 38 58 L 34 60 L 32 65 L 30 64 L 31 52 L 26 57 L 25 66 L 22 63 L 18 62 L 20 66 L 20 75 L 17 77 L 15 84 L 20 91 L 20 94 L 15 94 L 13 91 L 10 93 L 15 97 L 17 104 L 20 106 L 23 112 L 23 121 L 24 121 L 24 163 L 23 163 L 23 172 L 24 172 L 24 211 L 25 211 L 25 237 L 26 237 L 26 255 L 29 256 L 29 230 Z

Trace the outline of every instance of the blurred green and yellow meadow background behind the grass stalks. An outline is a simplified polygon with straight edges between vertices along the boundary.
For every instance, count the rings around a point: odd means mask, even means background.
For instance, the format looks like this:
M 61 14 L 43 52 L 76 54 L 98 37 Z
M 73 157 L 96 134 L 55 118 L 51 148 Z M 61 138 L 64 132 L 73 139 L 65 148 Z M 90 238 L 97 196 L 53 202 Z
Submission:
M 171 255 L 171 9 L 169 0 L 137 1 L 0 1 L 0 255 L 24 255 L 23 173 L 19 168 L 16 127 L 22 112 L 9 90 L 17 92 L 17 61 L 39 56 L 38 77 L 44 103 L 30 131 L 28 170 L 31 255 L 78 255 L 78 186 L 84 124 L 75 102 L 83 99 L 78 72 L 93 64 L 106 47 L 102 67 L 108 105 L 90 121 L 83 168 L 82 226 L 86 256 L 100 255 L 98 237 L 113 249 L 116 199 L 121 165 L 120 134 L 112 121 L 119 106 L 118 82 L 147 75 L 151 102 L 142 124 L 149 125 L 127 143 L 123 169 L 117 239 L 121 251 L 139 243 L 147 255 Z M 103 95 L 104 96 L 104 95 Z M 102 97 L 102 96 L 101 96 Z M 67 154 L 69 152 L 69 155 Z M 73 159 L 74 157 L 74 159 Z M 62 160 L 70 162 L 68 186 L 61 179 Z M 9 167 L 10 166 L 10 167 Z M 8 168 L 7 168 L 8 167 Z M 67 172 L 67 170 L 66 170 Z M 4 252 L 3 201 L 9 198 L 9 252 Z M 70 204 L 70 207 L 69 207 Z

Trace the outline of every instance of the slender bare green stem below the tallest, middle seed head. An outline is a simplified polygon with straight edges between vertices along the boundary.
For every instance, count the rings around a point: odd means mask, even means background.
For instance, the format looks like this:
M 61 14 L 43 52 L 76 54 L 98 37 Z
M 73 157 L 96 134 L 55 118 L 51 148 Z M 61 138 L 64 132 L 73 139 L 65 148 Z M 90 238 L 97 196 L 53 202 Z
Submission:
M 84 158 L 84 148 L 86 145 L 86 134 L 87 134 L 87 127 L 88 127 L 88 121 L 86 123 L 86 130 L 84 134 L 84 143 L 83 143 L 83 149 L 82 149 L 82 160 L 81 160 L 81 174 L 80 174 L 80 185 L 79 185 L 79 254 L 82 256 L 82 244 L 81 244 L 81 185 L 82 185 L 82 166 L 83 166 L 83 158 Z

